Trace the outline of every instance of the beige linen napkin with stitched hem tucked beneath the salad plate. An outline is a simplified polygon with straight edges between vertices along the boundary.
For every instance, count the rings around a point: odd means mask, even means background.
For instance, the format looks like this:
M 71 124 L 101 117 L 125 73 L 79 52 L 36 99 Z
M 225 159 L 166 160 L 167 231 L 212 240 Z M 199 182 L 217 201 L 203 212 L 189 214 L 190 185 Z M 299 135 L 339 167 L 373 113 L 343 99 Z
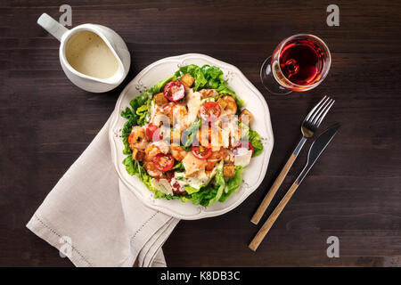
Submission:
M 178 219 L 147 208 L 111 162 L 110 118 L 27 227 L 76 266 L 166 266 L 161 246 Z

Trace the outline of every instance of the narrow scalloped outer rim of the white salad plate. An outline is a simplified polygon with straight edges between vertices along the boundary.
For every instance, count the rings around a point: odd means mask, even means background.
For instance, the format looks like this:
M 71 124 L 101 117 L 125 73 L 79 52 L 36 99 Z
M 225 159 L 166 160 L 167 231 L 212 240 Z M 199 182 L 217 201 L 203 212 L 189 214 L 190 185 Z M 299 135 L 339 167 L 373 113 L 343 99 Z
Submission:
M 126 181 L 125 177 L 120 173 L 119 170 L 119 162 L 118 161 L 118 154 L 117 154 L 117 144 L 114 140 L 116 133 L 115 133 L 115 125 L 117 124 L 118 120 L 119 120 L 119 110 L 121 110 L 121 102 L 123 100 L 123 98 L 125 97 L 125 95 L 127 94 L 127 92 L 130 90 L 130 88 L 135 85 L 135 83 L 138 81 L 141 81 L 141 77 L 143 77 L 143 75 L 145 73 L 147 73 L 150 69 L 154 68 L 155 66 L 159 65 L 160 63 L 164 62 L 164 61 L 177 61 L 177 63 L 179 64 L 180 62 L 184 61 L 185 59 L 188 58 L 196 58 L 198 60 L 206 60 L 206 61 L 212 61 L 212 62 L 216 62 L 217 66 L 224 66 L 225 69 L 232 69 L 235 71 L 236 74 L 238 74 L 239 77 L 241 77 L 241 80 L 247 85 L 248 88 L 250 88 L 250 90 L 252 90 L 253 94 L 256 94 L 258 96 L 258 98 L 260 99 L 260 101 L 263 104 L 263 109 L 266 111 L 265 114 L 265 118 L 267 118 L 265 120 L 265 125 L 266 125 L 266 131 L 267 131 L 267 137 L 268 137 L 268 142 L 267 144 L 264 144 L 264 152 L 265 152 L 265 156 L 264 159 L 262 161 L 262 171 L 261 171 L 261 175 L 259 175 L 259 179 L 258 182 L 253 184 L 251 187 L 248 187 L 246 189 L 246 191 L 243 191 L 243 194 L 241 195 L 241 197 L 239 197 L 239 199 L 237 199 L 235 202 L 233 202 L 233 204 L 231 204 L 229 207 L 227 208 L 223 208 L 223 209 L 217 209 L 217 210 L 213 210 L 213 211 L 206 211 L 206 207 L 200 206 L 200 205 L 193 205 L 193 207 L 198 207 L 200 209 L 199 213 L 196 214 L 191 214 L 191 215 L 183 215 L 181 213 L 178 213 L 170 208 L 166 208 L 163 206 L 159 206 L 159 205 L 155 205 L 153 204 L 153 200 L 154 199 L 147 199 L 146 197 L 143 197 L 143 195 L 141 195 L 141 193 L 139 191 L 135 191 L 132 188 L 135 188 L 135 186 L 133 184 L 130 184 Z M 169 216 L 174 216 L 176 218 L 179 219 L 184 219 L 184 220 L 197 220 L 197 219 L 201 219 L 201 218 L 205 218 L 205 217 L 212 217 L 212 216 L 220 216 L 223 215 L 231 210 L 233 210 L 233 208 L 238 207 L 245 199 L 247 199 L 250 194 L 254 191 L 256 191 L 258 189 L 258 186 L 263 182 L 263 179 L 266 176 L 266 172 L 267 172 L 267 167 L 268 167 L 268 163 L 271 157 L 271 153 L 273 151 L 273 147 L 274 147 L 274 134 L 273 134 L 273 128 L 271 125 L 271 118 L 270 118 L 270 111 L 268 109 L 267 106 L 267 102 L 265 97 L 258 91 L 258 89 L 252 85 L 252 83 L 250 82 L 250 80 L 245 77 L 243 75 L 243 73 L 241 72 L 240 69 L 238 69 L 237 67 L 235 67 L 233 64 L 227 63 L 225 61 L 219 61 L 209 55 L 206 54 L 201 54 L 201 53 L 184 53 L 181 55 L 176 55 L 176 56 L 170 56 L 170 57 L 166 57 L 166 58 L 162 58 L 158 61 L 154 61 L 152 62 L 150 65 L 146 66 L 144 69 L 142 69 L 125 87 L 124 89 L 121 91 L 121 93 L 119 94 L 119 98 L 116 102 L 115 108 L 113 110 L 113 113 L 111 115 L 111 120 L 110 120 L 110 125 L 109 125 L 109 142 L 110 142 L 110 150 L 111 150 L 111 159 L 113 162 L 113 165 L 116 169 L 116 172 L 119 175 L 119 179 L 121 180 L 122 183 L 124 183 L 124 185 L 127 187 L 127 189 L 129 191 L 134 192 L 135 196 L 140 199 L 143 204 L 146 207 L 158 210 L 166 215 Z M 142 182 L 141 182 L 142 183 Z M 244 182 L 242 182 L 243 184 Z M 241 184 L 241 186 L 242 186 Z

